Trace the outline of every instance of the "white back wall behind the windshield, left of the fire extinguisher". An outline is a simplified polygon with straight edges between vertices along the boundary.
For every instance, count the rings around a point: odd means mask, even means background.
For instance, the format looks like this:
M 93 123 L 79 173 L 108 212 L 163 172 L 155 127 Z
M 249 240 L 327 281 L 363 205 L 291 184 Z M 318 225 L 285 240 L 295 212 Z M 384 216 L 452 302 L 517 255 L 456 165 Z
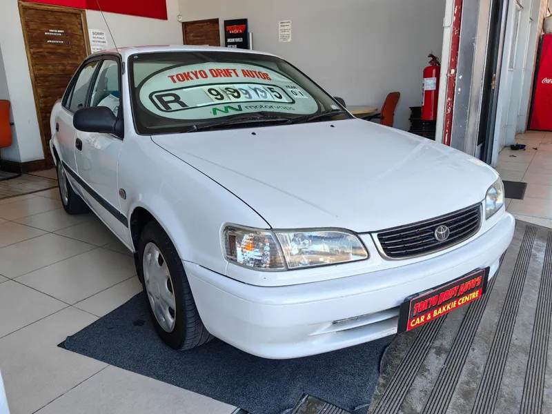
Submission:
M 381 107 L 401 92 L 395 127 L 408 129 L 409 106 L 422 104 L 428 53 L 441 54 L 443 0 L 179 0 L 184 21 L 249 19 L 256 50 L 298 66 L 348 104 Z M 279 43 L 278 21 L 292 41 Z

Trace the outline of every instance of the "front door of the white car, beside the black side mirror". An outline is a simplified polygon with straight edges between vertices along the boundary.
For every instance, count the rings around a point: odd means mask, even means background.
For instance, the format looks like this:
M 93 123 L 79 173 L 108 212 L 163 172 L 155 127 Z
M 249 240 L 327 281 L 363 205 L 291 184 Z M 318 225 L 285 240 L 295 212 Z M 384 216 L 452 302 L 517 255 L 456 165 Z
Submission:
M 106 106 L 123 121 L 121 63 L 117 56 L 103 57 L 88 94 L 88 106 Z M 75 139 L 77 172 L 86 201 L 102 221 L 123 241 L 128 222 L 120 213 L 117 164 L 123 140 L 112 134 L 78 131 Z

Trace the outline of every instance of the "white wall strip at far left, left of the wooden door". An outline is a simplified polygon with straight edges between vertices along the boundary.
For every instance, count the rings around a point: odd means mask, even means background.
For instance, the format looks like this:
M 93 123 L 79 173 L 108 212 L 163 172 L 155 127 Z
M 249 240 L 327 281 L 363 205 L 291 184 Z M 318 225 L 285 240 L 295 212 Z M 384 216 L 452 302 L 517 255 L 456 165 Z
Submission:
M 37 107 L 34 104 L 17 1 L 2 2 L 0 48 L 14 122 L 13 144 L 10 148 L 2 149 L 2 158 L 19 162 L 43 159 Z

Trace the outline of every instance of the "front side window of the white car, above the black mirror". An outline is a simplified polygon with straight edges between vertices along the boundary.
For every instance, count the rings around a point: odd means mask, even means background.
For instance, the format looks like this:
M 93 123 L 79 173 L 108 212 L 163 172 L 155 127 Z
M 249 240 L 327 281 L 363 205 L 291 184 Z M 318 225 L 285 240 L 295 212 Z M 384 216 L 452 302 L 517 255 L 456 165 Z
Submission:
M 90 106 L 106 106 L 117 117 L 120 97 L 119 63 L 114 60 L 104 60 L 92 88 Z

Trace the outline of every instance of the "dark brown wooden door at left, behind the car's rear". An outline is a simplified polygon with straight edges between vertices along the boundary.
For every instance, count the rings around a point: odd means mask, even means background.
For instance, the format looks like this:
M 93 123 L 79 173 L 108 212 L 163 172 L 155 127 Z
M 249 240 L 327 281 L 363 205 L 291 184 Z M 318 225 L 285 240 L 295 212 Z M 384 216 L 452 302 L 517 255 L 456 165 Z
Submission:
M 46 167 L 54 165 L 48 141 L 50 112 L 89 55 L 84 10 L 19 2 L 30 77 Z M 17 99 L 17 98 L 14 98 Z

